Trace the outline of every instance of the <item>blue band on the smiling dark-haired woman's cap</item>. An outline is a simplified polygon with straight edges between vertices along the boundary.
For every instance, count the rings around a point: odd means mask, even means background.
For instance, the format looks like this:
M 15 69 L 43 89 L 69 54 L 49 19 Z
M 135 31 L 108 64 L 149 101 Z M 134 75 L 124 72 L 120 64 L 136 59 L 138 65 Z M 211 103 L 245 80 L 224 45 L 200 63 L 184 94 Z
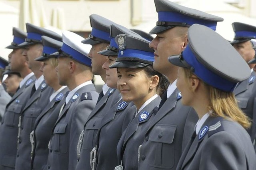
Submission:
M 154 53 L 134 49 L 119 50 L 118 57 L 136 57 L 143 60 L 154 61 Z

